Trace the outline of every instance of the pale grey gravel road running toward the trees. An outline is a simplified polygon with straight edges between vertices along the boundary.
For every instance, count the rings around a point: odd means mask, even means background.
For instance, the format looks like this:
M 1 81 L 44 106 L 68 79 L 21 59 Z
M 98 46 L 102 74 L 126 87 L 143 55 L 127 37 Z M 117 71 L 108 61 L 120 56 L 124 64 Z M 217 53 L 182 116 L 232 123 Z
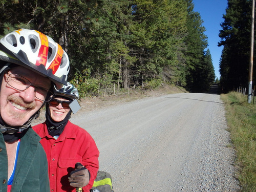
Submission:
M 220 95 L 179 93 L 73 115 L 115 192 L 239 191 Z

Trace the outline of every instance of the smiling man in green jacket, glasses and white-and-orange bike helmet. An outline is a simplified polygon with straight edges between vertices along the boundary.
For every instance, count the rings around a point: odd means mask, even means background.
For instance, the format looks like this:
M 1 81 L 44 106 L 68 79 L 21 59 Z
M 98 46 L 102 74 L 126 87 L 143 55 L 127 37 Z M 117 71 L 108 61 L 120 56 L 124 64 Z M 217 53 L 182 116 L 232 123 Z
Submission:
M 48 164 L 31 122 L 67 84 L 68 55 L 39 31 L 20 29 L 0 39 L 0 191 L 50 191 Z

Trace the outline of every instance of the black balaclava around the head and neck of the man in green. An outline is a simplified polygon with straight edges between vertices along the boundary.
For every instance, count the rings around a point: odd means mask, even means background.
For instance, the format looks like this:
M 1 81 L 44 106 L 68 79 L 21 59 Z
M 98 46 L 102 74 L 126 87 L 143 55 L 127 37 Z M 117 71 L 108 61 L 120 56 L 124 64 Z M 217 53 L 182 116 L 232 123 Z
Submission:
M 0 91 L 1 91 L 1 86 L 2 86 L 2 81 L 3 81 L 3 77 L 4 77 L 4 72 L 6 70 L 9 70 L 11 68 L 14 68 L 14 67 L 18 67 L 18 65 L 15 65 L 13 63 L 0 63 L 1 65 L 4 65 L 4 67 L 1 69 L 1 72 L 0 72 Z M 40 110 L 40 109 L 39 109 Z M 4 136 L 4 140 L 5 142 L 8 142 L 8 143 L 13 143 L 17 140 L 19 140 L 20 138 L 22 138 L 28 131 L 28 127 L 30 126 L 30 123 L 32 121 L 32 119 L 38 117 L 39 115 L 39 110 L 30 117 L 30 119 L 22 126 L 17 126 L 17 127 L 13 127 L 13 128 L 17 128 L 17 129 L 20 129 L 21 131 L 20 132 L 15 132 L 15 133 L 2 133 L 3 136 Z M 1 114 L 0 114 L 0 126 L 1 126 L 1 130 L 2 129 L 5 129 L 6 127 L 10 127 L 10 125 L 8 125 L 2 118 Z M 8 131 L 7 131 L 8 132 Z

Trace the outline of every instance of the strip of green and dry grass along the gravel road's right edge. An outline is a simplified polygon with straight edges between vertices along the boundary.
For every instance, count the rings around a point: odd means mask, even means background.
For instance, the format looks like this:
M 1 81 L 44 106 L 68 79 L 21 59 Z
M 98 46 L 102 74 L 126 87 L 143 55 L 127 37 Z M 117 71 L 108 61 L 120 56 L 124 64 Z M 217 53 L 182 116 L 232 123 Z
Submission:
M 233 146 L 237 152 L 237 178 L 242 191 L 256 191 L 256 104 L 237 92 L 221 94 Z

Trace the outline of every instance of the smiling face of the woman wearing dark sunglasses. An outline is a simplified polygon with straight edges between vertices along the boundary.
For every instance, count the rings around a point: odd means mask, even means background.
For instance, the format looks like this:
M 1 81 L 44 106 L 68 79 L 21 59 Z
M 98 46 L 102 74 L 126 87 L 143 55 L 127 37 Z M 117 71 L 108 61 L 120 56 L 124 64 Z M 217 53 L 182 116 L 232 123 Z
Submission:
M 60 103 L 64 101 L 65 103 Z M 55 97 L 53 100 L 49 101 L 49 110 L 52 120 L 59 122 L 65 119 L 70 111 L 68 104 L 70 101 L 68 99 Z

